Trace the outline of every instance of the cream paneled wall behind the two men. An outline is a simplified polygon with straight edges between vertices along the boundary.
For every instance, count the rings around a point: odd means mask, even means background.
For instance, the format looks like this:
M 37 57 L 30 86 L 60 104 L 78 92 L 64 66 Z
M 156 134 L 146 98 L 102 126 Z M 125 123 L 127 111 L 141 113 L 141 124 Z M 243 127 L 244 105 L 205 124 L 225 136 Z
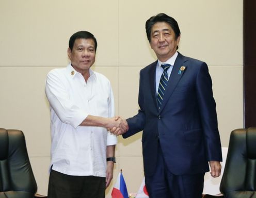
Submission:
M 38 192 L 47 193 L 50 112 L 44 94 L 47 72 L 68 63 L 69 37 L 88 30 L 98 40 L 93 67 L 113 85 L 116 114 L 138 109 L 139 70 L 156 57 L 145 32 L 152 15 L 165 12 L 181 29 L 179 51 L 209 65 L 222 146 L 243 127 L 243 1 L 239 0 L 0 0 L 0 127 L 23 130 Z M 118 162 L 129 192 L 142 177 L 141 134 L 119 138 Z

